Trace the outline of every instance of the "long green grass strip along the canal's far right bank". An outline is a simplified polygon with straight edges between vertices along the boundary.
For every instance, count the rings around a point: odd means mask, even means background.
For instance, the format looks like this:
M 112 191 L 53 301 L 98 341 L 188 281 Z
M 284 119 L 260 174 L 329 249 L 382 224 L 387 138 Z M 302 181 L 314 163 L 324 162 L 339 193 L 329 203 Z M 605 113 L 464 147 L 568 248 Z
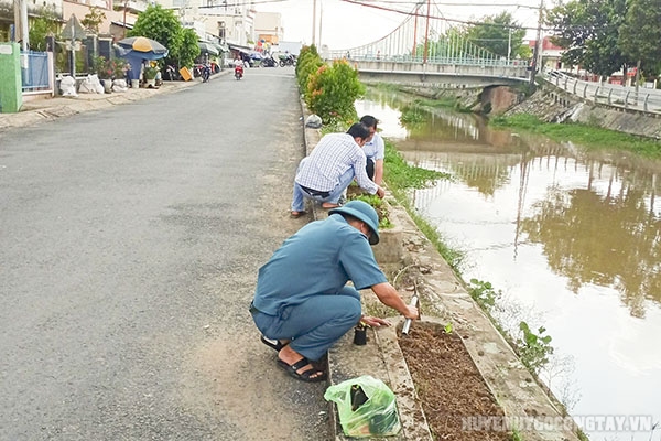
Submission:
M 491 118 L 489 126 L 540 133 L 555 141 L 571 140 L 588 149 L 627 150 L 646 158 L 661 159 L 661 141 L 584 123 L 548 123 L 531 115 L 514 115 Z

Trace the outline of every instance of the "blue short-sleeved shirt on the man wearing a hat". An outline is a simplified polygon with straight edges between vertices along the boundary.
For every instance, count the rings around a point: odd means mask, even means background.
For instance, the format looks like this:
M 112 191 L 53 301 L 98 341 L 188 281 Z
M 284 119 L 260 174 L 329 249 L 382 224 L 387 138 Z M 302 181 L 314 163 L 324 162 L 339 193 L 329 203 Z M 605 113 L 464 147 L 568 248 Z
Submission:
M 357 290 L 388 281 L 367 236 L 339 214 L 301 228 L 259 269 L 253 304 L 278 315 L 313 295 L 334 295 L 347 281 Z

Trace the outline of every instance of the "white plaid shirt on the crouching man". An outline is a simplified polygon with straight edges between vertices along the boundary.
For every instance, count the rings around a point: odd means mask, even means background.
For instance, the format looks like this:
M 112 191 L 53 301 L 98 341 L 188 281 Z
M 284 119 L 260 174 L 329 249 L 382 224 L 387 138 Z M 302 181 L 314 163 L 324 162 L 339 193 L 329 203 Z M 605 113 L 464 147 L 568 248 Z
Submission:
M 329 133 L 316 144 L 296 174 L 299 185 L 319 192 L 329 192 L 339 182 L 347 170 L 354 169 L 354 175 L 361 189 L 369 194 L 377 193 L 375 184 L 365 171 L 365 152 L 348 133 Z

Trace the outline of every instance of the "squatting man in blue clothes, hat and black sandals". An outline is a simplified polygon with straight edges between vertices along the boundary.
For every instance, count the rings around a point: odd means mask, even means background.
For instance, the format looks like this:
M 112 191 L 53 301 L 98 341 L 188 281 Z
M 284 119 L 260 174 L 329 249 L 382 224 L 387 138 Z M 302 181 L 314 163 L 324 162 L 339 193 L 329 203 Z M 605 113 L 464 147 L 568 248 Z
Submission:
M 312 362 L 356 324 L 388 325 L 361 314 L 359 290 L 371 288 L 383 304 L 418 319 L 418 309 L 403 302 L 375 260 L 377 212 L 350 201 L 328 213 L 288 238 L 260 268 L 250 305 L 262 342 L 278 351 L 278 365 L 304 381 L 326 379 Z

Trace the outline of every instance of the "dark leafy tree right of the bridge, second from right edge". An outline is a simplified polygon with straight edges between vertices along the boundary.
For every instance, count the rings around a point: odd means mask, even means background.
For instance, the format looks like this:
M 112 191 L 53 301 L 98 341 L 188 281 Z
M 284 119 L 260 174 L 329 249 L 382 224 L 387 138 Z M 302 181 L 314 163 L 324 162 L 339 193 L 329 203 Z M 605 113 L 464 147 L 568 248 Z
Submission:
M 573 0 L 550 10 L 546 24 L 555 31 L 552 41 L 566 50 L 563 63 L 605 76 L 629 64 L 618 46 L 626 11 L 627 0 Z

